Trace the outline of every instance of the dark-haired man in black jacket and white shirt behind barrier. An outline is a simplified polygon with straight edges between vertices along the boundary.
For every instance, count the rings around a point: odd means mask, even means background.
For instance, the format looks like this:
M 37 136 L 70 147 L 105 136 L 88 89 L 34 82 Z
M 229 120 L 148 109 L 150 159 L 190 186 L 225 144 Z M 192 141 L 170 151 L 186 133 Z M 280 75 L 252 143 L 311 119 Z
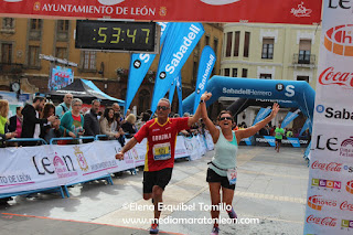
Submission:
M 26 104 L 22 109 L 23 125 L 22 125 L 22 138 L 40 138 L 41 125 L 52 122 L 55 120 L 55 116 L 52 115 L 47 118 L 40 119 L 40 111 L 42 111 L 45 104 L 45 98 L 36 96 L 33 99 L 33 105 Z M 35 142 L 23 142 L 23 146 L 35 146 Z

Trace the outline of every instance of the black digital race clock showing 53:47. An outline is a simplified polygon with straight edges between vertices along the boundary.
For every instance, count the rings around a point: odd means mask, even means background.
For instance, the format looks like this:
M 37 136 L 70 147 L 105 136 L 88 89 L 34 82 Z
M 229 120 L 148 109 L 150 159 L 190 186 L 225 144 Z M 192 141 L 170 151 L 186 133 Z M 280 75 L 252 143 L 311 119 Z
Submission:
M 76 49 L 159 53 L 154 22 L 76 21 Z

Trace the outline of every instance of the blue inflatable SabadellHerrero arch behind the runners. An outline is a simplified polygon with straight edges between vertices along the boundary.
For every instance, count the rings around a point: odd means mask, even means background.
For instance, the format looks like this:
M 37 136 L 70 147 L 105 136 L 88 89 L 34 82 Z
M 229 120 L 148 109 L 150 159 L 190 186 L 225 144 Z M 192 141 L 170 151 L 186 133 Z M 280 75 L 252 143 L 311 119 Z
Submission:
M 213 76 L 207 83 L 206 90 L 212 93 L 207 106 L 220 97 L 291 100 L 288 106 L 284 106 L 292 107 L 292 105 L 296 105 L 312 121 L 315 92 L 303 81 Z M 183 100 L 183 111 L 193 113 L 194 96 L 193 93 Z

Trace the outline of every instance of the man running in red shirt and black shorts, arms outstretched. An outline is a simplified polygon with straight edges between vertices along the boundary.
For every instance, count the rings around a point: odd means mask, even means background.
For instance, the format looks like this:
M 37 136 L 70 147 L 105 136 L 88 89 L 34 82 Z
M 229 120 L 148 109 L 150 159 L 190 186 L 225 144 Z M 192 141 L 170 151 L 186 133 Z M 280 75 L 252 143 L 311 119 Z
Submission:
M 201 97 L 201 103 L 210 98 L 211 96 L 205 93 Z M 169 99 L 161 98 L 157 106 L 157 118 L 147 121 L 116 154 L 116 159 L 121 160 L 137 142 L 141 142 L 143 138 L 148 140 L 143 170 L 143 199 L 152 199 L 154 204 L 154 221 L 151 224 L 150 234 L 159 232 L 158 220 L 161 211 L 158 210 L 158 203 L 163 202 L 163 191 L 172 177 L 176 135 L 183 129 L 189 129 L 201 117 L 200 107 L 190 118 L 169 118 L 170 111 Z

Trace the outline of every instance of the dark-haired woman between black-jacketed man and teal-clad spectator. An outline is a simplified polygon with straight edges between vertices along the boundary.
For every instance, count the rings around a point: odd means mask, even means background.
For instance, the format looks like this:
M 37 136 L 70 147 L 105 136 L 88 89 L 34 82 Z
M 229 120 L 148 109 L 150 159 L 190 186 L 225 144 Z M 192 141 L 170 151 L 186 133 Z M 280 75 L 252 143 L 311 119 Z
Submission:
M 55 115 L 55 106 L 51 103 L 46 103 L 43 108 L 43 114 L 41 118 L 47 118 L 52 115 Z M 41 126 L 41 136 L 47 143 L 52 138 L 62 137 L 62 132 L 60 131 L 60 119 L 55 116 L 55 120 L 51 124 L 43 124 Z

